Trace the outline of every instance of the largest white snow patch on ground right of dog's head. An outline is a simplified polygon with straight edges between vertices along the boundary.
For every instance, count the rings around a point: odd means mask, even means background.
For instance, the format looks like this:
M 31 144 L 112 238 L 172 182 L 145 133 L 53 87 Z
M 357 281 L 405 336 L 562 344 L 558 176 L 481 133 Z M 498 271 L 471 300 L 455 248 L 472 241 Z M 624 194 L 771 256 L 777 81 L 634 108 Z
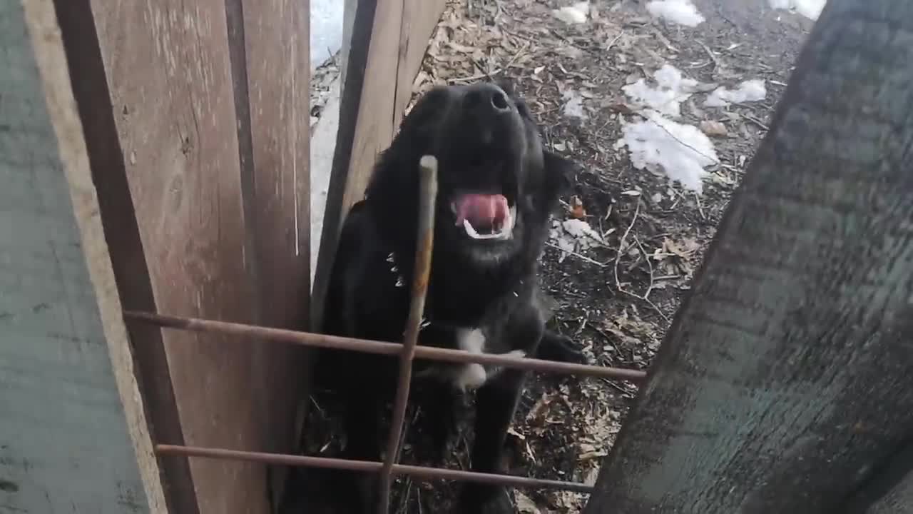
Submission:
M 671 180 L 700 193 L 705 166 L 719 163 L 717 151 L 698 127 L 676 123 L 658 112 L 646 112 L 646 120 L 624 123 L 616 148 L 626 145 L 636 169 L 662 170 Z

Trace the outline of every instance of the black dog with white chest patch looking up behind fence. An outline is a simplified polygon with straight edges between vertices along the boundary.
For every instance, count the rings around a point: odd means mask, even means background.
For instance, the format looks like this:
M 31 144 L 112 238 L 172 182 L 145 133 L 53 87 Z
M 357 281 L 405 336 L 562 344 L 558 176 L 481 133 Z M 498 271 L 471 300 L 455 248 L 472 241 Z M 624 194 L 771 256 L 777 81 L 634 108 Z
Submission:
M 545 330 L 536 275 L 549 215 L 571 163 L 542 148 L 530 112 L 506 89 L 488 83 L 437 88 L 405 118 L 375 167 L 365 198 L 352 207 L 341 230 L 326 333 L 402 339 L 415 258 L 418 162 L 422 155 L 435 155 L 434 255 L 419 344 L 582 360 L 569 340 Z M 396 364 L 370 354 L 321 354 L 319 370 L 341 379 L 346 458 L 379 459 L 381 419 L 394 391 Z M 433 423 L 437 451 L 446 448 L 456 394 L 477 389 L 472 469 L 498 473 L 524 377 L 515 369 L 417 361 L 415 390 L 431 391 L 434 399 L 423 409 Z M 373 480 L 352 488 L 351 479 L 341 478 L 352 502 L 345 511 L 372 512 Z M 458 505 L 460 514 L 513 512 L 507 490 L 491 485 L 467 483 Z

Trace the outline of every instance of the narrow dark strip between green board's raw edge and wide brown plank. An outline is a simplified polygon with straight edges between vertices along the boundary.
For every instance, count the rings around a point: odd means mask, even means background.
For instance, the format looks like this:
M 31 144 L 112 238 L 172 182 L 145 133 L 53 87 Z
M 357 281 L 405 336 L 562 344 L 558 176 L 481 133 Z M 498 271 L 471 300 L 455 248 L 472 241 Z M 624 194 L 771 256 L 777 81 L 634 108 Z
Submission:
M 85 131 L 92 181 L 96 185 L 101 223 L 115 281 L 125 309 L 156 312 L 149 266 L 143 252 L 127 172 L 114 121 L 108 80 L 101 58 L 89 0 L 55 0 L 72 77 L 73 94 Z M 133 324 L 127 327 L 140 378 L 153 440 L 184 444 L 184 432 L 162 331 Z M 197 514 L 194 481 L 186 457 L 159 458 L 170 511 Z

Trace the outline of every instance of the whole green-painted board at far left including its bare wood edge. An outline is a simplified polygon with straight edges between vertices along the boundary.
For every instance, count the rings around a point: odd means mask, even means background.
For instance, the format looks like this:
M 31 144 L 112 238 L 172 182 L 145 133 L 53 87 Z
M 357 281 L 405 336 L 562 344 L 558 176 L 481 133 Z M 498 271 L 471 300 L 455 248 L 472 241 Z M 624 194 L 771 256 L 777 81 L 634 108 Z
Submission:
M 164 513 L 53 5 L 0 48 L 0 510 Z

